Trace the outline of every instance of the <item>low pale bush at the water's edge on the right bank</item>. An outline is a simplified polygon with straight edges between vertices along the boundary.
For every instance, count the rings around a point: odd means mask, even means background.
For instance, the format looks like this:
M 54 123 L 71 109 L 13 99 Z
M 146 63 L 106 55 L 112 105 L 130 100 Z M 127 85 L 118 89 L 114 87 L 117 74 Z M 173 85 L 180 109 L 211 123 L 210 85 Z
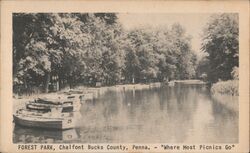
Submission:
M 220 81 L 212 85 L 211 92 L 213 94 L 228 94 L 228 95 L 239 95 L 239 81 L 228 80 Z

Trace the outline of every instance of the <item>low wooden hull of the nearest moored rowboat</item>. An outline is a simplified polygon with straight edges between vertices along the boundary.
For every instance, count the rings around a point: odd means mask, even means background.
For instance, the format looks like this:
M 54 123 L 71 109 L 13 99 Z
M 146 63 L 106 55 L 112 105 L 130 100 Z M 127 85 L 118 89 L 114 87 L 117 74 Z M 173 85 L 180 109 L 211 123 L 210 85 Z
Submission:
M 24 116 L 13 115 L 14 122 L 21 126 L 34 127 L 34 128 L 46 128 L 46 129 L 72 129 L 74 128 L 71 118 L 68 119 L 51 119 L 51 120 L 36 120 L 28 119 Z

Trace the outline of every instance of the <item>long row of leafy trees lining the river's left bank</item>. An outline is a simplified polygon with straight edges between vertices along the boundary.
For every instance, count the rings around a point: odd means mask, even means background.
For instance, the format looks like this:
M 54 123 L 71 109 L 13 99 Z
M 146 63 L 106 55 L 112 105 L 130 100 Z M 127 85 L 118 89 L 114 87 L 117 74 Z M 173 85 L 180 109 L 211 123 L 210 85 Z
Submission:
M 193 78 L 190 40 L 180 24 L 126 31 L 114 13 L 13 14 L 13 84 L 47 92 L 53 80 L 63 87 Z

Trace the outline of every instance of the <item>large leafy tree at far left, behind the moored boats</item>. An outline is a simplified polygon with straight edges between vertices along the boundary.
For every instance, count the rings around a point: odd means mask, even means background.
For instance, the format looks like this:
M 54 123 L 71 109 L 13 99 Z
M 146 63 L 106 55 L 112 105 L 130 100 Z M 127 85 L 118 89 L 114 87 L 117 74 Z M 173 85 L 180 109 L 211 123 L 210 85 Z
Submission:
M 80 24 L 69 14 L 14 14 L 14 83 L 42 83 L 47 92 L 51 74 L 61 72 L 65 57 L 71 60 L 80 52 Z

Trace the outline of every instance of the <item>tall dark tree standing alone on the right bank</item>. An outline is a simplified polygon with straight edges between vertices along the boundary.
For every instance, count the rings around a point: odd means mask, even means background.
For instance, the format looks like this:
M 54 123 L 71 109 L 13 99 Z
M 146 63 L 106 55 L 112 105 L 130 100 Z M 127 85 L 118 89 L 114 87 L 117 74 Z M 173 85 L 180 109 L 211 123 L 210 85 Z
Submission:
M 199 64 L 211 82 L 233 79 L 231 73 L 239 66 L 239 23 L 237 14 L 212 15 L 203 33 L 202 50 L 208 56 Z M 203 75 L 204 76 L 204 75 Z

